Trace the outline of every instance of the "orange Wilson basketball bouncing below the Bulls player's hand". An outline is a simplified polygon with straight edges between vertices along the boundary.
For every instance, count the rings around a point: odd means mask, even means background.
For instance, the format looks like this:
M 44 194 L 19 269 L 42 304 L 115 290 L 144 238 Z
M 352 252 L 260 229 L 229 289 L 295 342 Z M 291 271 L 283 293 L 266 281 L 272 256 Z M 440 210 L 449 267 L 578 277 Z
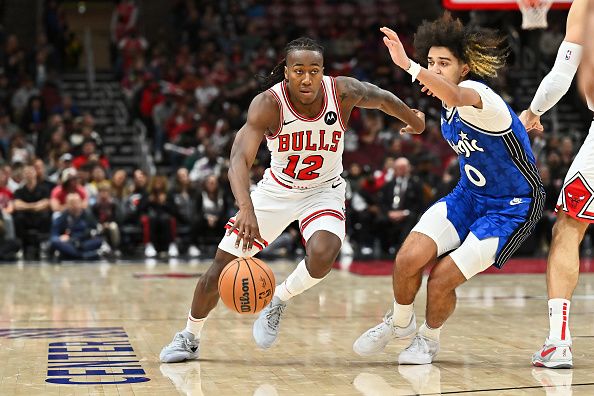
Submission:
M 274 273 L 262 260 L 239 257 L 223 268 L 219 295 L 223 303 L 240 314 L 260 312 L 274 294 Z

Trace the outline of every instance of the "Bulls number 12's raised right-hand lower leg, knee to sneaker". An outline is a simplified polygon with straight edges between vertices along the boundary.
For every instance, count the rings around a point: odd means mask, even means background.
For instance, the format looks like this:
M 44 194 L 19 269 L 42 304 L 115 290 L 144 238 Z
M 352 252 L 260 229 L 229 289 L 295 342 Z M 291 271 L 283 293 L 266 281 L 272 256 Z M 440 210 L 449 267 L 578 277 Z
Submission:
M 325 230 L 314 232 L 308 239 L 305 258 L 287 279 L 276 287 L 272 301 L 254 322 L 254 340 L 260 348 L 270 348 L 276 341 L 287 301 L 317 285 L 328 275 L 341 245 L 338 236 Z

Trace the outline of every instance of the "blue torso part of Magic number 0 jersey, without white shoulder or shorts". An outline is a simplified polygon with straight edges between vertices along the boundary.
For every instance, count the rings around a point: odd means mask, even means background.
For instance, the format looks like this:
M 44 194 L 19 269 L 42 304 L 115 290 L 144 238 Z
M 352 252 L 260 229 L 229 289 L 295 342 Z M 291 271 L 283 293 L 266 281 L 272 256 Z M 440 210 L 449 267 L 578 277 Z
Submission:
M 534 198 L 543 188 L 530 140 L 509 106 L 507 111 L 511 125 L 490 131 L 464 119 L 457 108 L 442 108 L 441 132 L 458 154 L 460 187 L 493 198 Z

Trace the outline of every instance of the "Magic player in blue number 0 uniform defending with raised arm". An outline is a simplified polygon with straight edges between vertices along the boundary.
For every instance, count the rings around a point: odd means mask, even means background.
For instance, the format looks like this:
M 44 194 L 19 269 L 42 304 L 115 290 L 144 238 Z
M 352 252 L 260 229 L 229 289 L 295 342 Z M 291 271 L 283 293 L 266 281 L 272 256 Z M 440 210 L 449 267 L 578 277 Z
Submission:
M 441 99 L 443 137 L 458 154 L 460 181 L 413 228 L 394 263 L 394 309 L 357 339 L 360 355 L 380 352 L 394 338 L 416 332 L 413 302 L 423 270 L 425 323 L 399 355 L 400 364 L 431 363 L 441 328 L 456 306 L 456 288 L 489 266 L 501 268 L 534 228 L 545 193 L 526 129 L 482 80 L 505 63 L 503 40 L 471 30 L 449 13 L 418 29 L 414 45 L 424 68 L 408 58 L 394 31 L 382 28 L 394 63 Z

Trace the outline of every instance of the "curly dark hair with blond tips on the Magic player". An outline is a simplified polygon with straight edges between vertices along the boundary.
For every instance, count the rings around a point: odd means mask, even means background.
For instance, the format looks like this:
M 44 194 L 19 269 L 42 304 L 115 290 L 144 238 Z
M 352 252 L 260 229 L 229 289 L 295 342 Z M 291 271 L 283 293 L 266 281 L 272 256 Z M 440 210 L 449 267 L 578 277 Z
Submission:
M 446 47 L 470 67 L 471 76 L 497 77 L 509 54 L 505 37 L 495 30 L 464 26 L 449 12 L 433 22 L 423 21 L 415 33 L 414 46 L 420 62 L 427 62 L 429 49 Z

